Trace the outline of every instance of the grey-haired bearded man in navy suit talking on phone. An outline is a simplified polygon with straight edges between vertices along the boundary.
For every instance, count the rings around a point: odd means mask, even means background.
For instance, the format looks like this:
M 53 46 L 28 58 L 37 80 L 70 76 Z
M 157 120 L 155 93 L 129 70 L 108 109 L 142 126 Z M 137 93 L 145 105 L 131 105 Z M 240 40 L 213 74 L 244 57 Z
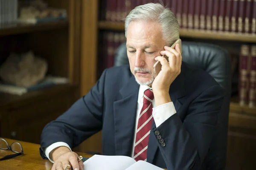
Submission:
M 104 155 L 131 156 L 168 170 L 205 169 L 222 88 L 182 62 L 179 45 L 169 47 L 179 39 L 179 26 L 161 4 L 132 10 L 125 36 L 129 66 L 105 70 L 86 96 L 46 125 L 41 156 L 54 162 L 52 170 L 68 164 L 82 169 L 71 148 L 102 130 Z M 156 61 L 162 70 L 154 78 Z

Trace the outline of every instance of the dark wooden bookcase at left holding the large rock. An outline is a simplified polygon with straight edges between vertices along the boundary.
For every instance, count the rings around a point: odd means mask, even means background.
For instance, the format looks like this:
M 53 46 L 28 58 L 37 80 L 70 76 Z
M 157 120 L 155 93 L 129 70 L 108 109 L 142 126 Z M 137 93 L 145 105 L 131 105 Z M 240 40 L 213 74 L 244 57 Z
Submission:
M 0 64 L 11 52 L 23 54 L 31 50 L 35 56 L 46 59 L 47 75 L 69 79 L 66 84 L 29 91 L 21 96 L 0 93 L 0 136 L 39 143 L 43 127 L 67 111 L 81 96 L 81 1 L 44 0 L 51 7 L 66 9 L 66 20 L 0 25 Z M 87 73 L 84 75 L 90 77 Z M 83 88 L 88 86 L 91 85 Z

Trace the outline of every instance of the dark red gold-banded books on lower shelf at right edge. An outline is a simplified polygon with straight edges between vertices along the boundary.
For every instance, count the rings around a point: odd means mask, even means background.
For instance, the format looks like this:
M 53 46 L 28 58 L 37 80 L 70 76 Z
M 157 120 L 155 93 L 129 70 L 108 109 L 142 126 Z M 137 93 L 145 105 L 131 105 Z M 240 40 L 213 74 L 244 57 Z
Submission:
M 239 60 L 240 105 L 256 107 L 256 44 L 241 45 Z

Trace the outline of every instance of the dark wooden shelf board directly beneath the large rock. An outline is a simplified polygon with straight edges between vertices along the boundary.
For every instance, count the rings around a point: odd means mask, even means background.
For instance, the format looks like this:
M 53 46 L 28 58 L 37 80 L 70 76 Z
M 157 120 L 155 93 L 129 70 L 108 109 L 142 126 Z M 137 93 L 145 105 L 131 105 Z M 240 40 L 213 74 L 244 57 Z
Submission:
M 9 108 L 9 106 L 26 105 L 27 103 L 35 100 L 43 100 L 55 96 L 57 94 L 63 94 L 75 89 L 75 86 L 70 84 L 54 85 L 40 90 L 30 91 L 21 96 L 0 93 L 0 108 Z

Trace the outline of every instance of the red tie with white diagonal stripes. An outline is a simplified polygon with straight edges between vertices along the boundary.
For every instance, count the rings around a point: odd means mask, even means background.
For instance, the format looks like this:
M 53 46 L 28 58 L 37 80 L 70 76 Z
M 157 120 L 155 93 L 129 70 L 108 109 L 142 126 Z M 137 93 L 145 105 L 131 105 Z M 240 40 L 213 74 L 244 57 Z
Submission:
M 134 159 L 136 161 L 147 160 L 148 138 L 153 122 L 152 100 L 154 99 L 153 91 L 146 90 L 143 96 L 143 107 L 140 111 L 138 126 L 136 130 L 136 140 L 134 145 Z

